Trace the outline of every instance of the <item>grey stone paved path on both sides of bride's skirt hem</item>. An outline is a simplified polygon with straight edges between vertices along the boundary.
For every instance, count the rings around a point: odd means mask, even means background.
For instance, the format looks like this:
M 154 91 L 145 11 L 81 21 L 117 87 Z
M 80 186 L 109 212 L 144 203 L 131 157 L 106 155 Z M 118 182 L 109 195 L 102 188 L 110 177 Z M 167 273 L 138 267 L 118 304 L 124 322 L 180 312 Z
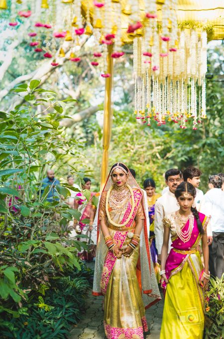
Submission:
M 88 298 L 88 309 L 83 320 L 71 331 L 69 339 L 105 339 L 102 311 L 103 297 L 94 297 L 91 292 Z M 159 339 L 163 312 L 163 299 L 146 310 L 150 335 L 146 339 Z

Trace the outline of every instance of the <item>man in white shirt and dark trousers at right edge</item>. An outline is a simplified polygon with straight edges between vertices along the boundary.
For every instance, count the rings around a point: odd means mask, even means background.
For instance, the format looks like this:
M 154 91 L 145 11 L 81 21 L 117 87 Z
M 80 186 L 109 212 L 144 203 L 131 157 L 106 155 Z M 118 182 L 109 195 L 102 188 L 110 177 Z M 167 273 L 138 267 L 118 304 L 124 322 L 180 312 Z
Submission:
M 211 215 L 210 225 L 213 243 L 209 247 L 209 269 L 213 276 L 221 278 L 224 273 L 224 192 L 223 181 L 218 175 L 209 177 L 208 191 L 203 198 L 200 212 Z

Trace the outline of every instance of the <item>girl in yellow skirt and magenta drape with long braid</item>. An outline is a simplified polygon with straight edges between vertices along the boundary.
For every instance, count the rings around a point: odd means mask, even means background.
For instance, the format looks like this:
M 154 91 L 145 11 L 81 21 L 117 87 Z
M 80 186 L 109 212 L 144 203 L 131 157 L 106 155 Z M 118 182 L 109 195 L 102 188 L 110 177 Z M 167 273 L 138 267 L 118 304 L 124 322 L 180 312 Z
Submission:
M 161 286 L 165 289 L 160 339 L 202 339 L 204 290 L 210 278 L 206 227 L 209 218 L 192 207 L 196 189 L 181 183 L 176 191 L 179 211 L 164 218 Z M 167 257 L 169 234 L 172 249 Z M 202 240 L 204 268 L 198 244 Z

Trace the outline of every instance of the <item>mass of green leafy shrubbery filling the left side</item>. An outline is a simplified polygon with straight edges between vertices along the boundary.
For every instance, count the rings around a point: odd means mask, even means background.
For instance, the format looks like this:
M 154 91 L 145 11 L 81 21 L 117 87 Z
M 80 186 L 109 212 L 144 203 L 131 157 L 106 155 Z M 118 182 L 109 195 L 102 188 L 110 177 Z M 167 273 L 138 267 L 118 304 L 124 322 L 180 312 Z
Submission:
M 70 100 L 57 101 L 39 84 L 19 84 L 12 95 L 24 94 L 23 103 L 0 112 L 0 338 L 65 338 L 68 324 L 80 319 L 89 287 L 90 272 L 78 258 L 87 243 L 65 233 L 81 216 L 66 204 L 73 188 L 56 185 L 52 201 L 50 186 L 42 188 L 48 167 L 65 168 L 81 153 L 60 126 Z

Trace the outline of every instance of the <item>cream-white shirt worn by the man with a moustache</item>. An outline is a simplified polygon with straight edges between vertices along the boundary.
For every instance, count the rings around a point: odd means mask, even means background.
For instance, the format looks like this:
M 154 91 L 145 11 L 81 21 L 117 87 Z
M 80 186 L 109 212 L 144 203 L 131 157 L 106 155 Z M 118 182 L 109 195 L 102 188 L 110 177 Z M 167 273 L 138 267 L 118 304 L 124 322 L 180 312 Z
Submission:
M 164 193 L 160 198 L 156 200 L 155 203 L 155 221 L 154 221 L 154 233 L 155 233 L 155 242 L 158 254 L 161 254 L 162 244 L 163 244 L 163 219 L 167 214 L 176 212 L 179 210 L 177 205 L 177 199 L 175 195 L 168 191 Z M 171 249 L 171 238 L 169 240 L 169 249 Z

